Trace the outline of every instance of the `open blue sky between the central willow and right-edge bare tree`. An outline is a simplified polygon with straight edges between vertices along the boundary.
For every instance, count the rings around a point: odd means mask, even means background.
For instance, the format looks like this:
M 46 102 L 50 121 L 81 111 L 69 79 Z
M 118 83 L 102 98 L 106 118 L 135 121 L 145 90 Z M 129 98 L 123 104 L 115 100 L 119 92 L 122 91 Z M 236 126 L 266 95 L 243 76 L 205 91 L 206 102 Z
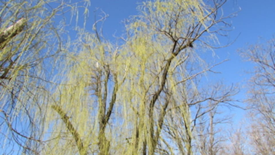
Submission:
M 220 76 L 225 83 L 239 84 L 240 93 L 236 95 L 236 99 L 244 100 L 247 91 L 246 82 L 251 76 L 247 72 L 253 70 L 253 65 L 250 62 L 243 61 L 237 50 L 241 48 L 245 50 L 250 45 L 258 42 L 265 43 L 272 38 L 275 34 L 275 1 L 234 1 L 228 1 L 224 9 L 230 12 L 235 11 L 237 7 L 241 8 L 237 17 L 231 19 L 234 30 L 230 32 L 229 37 L 234 39 L 238 34 L 240 35 L 231 46 L 216 51 L 221 59 L 230 59 L 230 61 L 218 66 L 217 70 L 222 72 Z M 244 119 L 243 115 L 245 112 L 243 110 L 234 109 L 233 113 L 235 113 L 235 123 Z

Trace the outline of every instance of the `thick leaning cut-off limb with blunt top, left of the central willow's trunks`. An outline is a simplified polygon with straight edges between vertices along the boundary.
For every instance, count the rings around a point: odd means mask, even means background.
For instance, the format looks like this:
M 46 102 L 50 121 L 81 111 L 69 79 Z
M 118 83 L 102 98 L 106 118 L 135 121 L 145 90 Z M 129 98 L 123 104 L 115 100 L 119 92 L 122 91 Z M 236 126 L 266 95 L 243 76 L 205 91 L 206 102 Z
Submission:
M 77 148 L 79 150 L 80 155 L 87 155 L 87 152 L 83 146 L 83 143 L 80 139 L 80 135 L 72 125 L 72 123 L 69 120 L 69 117 L 66 115 L 66 113 L 62 110 L 62 108 L 58 105 L 52 105 L 52 109 L 54 109 L 61 117 L 63 122 L 66 124 L 67 129 L 70 131 L 72 136 L 74 137 L 74 140 L 76 142 Z

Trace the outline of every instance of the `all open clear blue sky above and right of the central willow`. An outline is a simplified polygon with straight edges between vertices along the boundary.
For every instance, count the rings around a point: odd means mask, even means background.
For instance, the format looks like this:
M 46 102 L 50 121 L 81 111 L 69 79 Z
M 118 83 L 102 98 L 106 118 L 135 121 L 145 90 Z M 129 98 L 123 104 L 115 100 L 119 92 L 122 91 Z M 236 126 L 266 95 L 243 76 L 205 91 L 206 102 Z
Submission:
M 94 22 L 95 8 L 102 9 L 109 15 L 109 18 L 103 25 L 103 33 L 106 38 L 110 40 L 113 34 L 120 36 L 124 30 L 122 23 L 123 19 L 128 18 L 130 15 L 136 15 L 137 4 L 142 2 L 141 0 L 92 0 L 90 7 L 89 20 L 87 22 L 87 28 L 92 29 L 92 23 Z M 221 44 L 226 44 L 228 41 L 237 40 L 229 47 L 216 50 L 216 62 L 220 62 L 224 59 L 230 61 L 225 62 L 215 68 L 215 71 L 222 72 L 219 75 L 212 75 L 209 79 L 217 80 L 222 79 L 225 84 L 238 84 L 241 88 L 240 93 L 236 95 L 236 99 L 245 99 L 245 86 L 246 80 L 250 78 L 250 75 L 246 72 L 252 70 L 253 66 L 249 62 L 244 62 L 239 56 L 237 50 L 240 48 L 247 48 L 248 45 L 253 45 L 258 41 L 269 40 L 275 34 L 275 1 L 274 0 L 228 0 L 223 6 L 225 15 L 240 11 L 237 13 L 237 17 L 231 19 L 233 30 L 229 32 L 227 39 L 221 39 Z M 210 75 L 209 75 L 210 76 Z M 213 78 L 214 77 L 214 78 Z M 244 111 L 240 109 L 234 109 L 235 123 L 243 118 Z

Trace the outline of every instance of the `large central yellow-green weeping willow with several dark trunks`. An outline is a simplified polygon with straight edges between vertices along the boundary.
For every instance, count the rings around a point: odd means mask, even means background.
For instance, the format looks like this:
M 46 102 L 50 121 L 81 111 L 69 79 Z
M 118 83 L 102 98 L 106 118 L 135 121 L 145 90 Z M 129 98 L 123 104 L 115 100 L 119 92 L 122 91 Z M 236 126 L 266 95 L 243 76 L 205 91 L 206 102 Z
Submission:
M 80 30 L 46 105 L 40 154 L 193 154 L 215 151 L 213 116 L 236 93 L 200 80 L 218 64 L 200 58 L 226 35 L 226 1 L 147 1 L 116 43 Z M 218 44 L 219 46 L 219 44 Z M 203 81 L 203 80 L 202 80 Z M 209 114 L 212 146 L 197 126 Z M 199 122 L 199 123 L 198 123 Z M 210 135 L 210 136 L 209 136 Z

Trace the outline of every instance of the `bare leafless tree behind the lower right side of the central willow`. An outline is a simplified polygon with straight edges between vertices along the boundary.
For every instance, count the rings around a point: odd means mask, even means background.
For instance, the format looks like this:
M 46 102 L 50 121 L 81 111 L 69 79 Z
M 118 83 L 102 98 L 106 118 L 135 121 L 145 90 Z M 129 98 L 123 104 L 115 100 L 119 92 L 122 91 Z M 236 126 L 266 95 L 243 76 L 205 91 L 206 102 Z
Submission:
M 231 97 L 238 89 L 227 88 L 222 83 L 203 88 L 197 93 L 188 90 L 188 111 L 182 115 L 171 114 L 170 123 L 165 125 L 166 140 L 175 141 L 180 154 L 222 154 L 225 150 L 223 142 L 227 137 L 222 127 L 230 123 L 231 117 L 223 115 L 223 111 L 231 107 Z M 176 108 L 179 110 L 180 106 Z

